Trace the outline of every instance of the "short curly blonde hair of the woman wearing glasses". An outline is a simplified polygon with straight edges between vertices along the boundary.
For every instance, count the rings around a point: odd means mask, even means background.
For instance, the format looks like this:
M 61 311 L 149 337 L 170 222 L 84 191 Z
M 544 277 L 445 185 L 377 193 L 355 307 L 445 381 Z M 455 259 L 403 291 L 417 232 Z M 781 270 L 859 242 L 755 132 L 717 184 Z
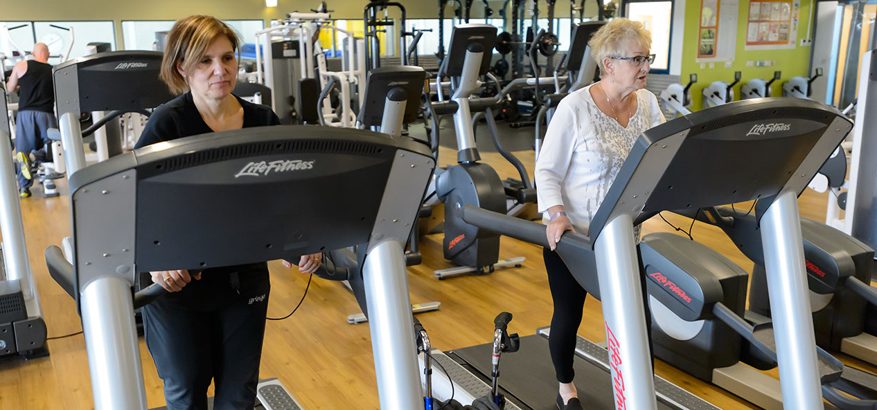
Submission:
M 652 48 L 652 33 L 645 30 L 642 23 L 627 18 L 615 18 L 594 33 L 588 46 L 591 47 L 591 56 L 600 67 L 601 77 L 606 74 L 606 67 L 602 64 L 606 57 L 630 57 L 624 55 L 628 52 L 624 47 L 631 41 Z

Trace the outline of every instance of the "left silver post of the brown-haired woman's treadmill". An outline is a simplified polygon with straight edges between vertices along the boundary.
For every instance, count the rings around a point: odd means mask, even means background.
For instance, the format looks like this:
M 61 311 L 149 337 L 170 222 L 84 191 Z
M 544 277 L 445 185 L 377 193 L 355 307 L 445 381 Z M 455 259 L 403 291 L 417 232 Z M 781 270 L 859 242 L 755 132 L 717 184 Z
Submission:
M 146 410 L 131 283 L 94 279 L 82 288 L 82 330 L 96 410 Z

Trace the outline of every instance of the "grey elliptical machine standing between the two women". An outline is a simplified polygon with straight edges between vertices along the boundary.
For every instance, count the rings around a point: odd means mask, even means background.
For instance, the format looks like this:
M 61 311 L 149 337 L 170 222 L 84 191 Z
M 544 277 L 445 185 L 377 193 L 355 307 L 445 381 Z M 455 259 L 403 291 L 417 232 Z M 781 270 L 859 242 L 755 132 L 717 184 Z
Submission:
M 481 208 L 506 213 L 507 194 L 512 194 L 517 201 L 528 202 L 535 198 L 533 188 L 524 165 L 510 152 L 502 149 L 496 139 L 496 122 L 492 107 L 496 105 L 493 97 L 473 98 L 472 94 L 480 86 L 478 78 L 487 74 L 490 67 L 488 56 L 492 53 L 496 40 L 496 27 L 493 25 L 457 25 L 451 33 L 450 55 L 465 56 L 464 58 L 445 59 L 439 68 L 436 79 L 436 91 L 439 102 L 429 103 L 432 119 L 432 144 L 434 152 L 438 152 L 440 115 L 453 114 L 454 128 L 457 136 L 457 165 L 437 170 L 435 195 L 445 205 L 445 238 L 442 249 L 445 258 L 460 268 L 452 268 L 435 272 L 439 279 L 469 272 L 493 272 L 497 267 L 520 265 L 524 258 L 499 260 L 499 235 L 487 230 L 463 223 L 460 209 L 449 204 L 475 203 Z M 450 77 L 449 83 L 442 83 L 444 77 Z M 444 100 L 444 88 L 449 86 L 451 99 Z M 488 128 L 495 137 L 494 142 L 503 157 L 517 168 L 522 187 L 514 192 L 507 192 L 496 171 L 479 162 L 481 155 L 475 147 L 472 129 L 472 112 L 484 111 Z

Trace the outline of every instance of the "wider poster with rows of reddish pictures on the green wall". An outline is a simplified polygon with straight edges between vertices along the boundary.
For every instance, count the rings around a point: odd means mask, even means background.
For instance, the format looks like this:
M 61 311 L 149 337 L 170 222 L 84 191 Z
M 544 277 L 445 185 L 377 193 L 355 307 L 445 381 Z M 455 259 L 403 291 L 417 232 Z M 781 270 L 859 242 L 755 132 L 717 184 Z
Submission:
M 759 0 L 749 4 L 746 50 L 795 48 L 801 0 Z

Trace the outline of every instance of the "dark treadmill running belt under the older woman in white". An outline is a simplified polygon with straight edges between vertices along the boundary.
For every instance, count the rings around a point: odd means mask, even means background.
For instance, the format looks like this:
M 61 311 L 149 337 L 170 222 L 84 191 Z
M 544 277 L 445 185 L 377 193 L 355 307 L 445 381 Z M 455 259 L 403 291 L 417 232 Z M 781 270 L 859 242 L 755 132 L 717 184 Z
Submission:
M 465 360 L 489 380 L 492 351 L 493 344 L 487 343 L 452 350 L 451 353 Z M 582 406 L 589 410 L 614 410 L 609 372 L 578 356 L 574 357 L 573 368 Z M 538 335 L 521 337 L 521 349 L 514 353 L 503 353 L 499 371 L 500 387 L 514 394 L 525 406 L 533 410 L 557 410 L 557 379 L 548 352 L 548 339 Z M 658 403 L 659 410 L 670 408 Z

